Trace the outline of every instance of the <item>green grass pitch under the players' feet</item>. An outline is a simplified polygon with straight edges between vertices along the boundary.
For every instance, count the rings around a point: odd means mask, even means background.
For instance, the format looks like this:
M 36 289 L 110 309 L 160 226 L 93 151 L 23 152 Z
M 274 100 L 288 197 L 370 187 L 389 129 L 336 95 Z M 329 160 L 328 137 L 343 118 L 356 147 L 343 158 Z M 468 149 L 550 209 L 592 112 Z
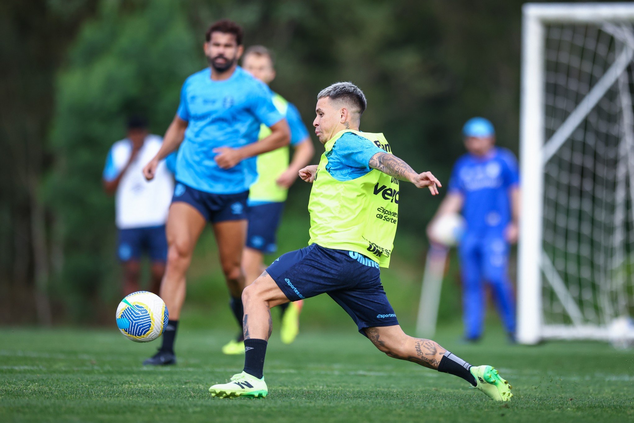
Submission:
M 515 395 L 502 405 L 462 379 L 386 357 L 350 326 L 302 333 L 290 346 L 274 332 L 264 400 L 221 400 L 207 392 L 242 370 L 242 356 L 219 353 L 231 332 L 181 325 L 178 365 L 157 369 L 139 363 L 158 342 L 127 341 L 114 327 L 0 329 L 0 421 L 634 421 L 632 351 L 600 343 L 515 346 L 495 333 L 466 345 L 457 328 L 437 336 L 465 360 L 500 370 Z

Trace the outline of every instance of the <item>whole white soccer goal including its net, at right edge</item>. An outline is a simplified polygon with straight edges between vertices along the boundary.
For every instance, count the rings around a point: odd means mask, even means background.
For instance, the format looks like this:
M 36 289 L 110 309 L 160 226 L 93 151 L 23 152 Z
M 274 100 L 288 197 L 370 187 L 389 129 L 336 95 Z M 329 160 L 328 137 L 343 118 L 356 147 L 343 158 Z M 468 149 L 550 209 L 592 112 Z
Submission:
M 607 340 L 634 315 L 634 3 L 523 11 L 518 339 Z

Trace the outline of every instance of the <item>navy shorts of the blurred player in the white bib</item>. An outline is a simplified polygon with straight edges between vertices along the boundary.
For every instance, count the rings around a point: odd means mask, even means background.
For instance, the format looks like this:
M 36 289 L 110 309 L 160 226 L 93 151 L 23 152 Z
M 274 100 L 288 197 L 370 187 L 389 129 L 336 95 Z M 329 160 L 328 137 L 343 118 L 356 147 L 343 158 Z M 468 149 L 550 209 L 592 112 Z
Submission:
M 167 237 L 165 225 L 143 228 L 119 229 L 117 255 L 122 262 L 138 261 L 143 253 L 148 253 L 152 262 L 167 259 Z

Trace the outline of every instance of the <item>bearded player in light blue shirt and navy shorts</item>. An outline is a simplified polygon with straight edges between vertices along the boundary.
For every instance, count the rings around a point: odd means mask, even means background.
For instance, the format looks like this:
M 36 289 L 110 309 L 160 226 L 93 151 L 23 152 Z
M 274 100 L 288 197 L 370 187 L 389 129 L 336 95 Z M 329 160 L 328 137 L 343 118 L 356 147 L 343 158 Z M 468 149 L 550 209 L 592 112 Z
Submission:
M 160 350 L 145 364 L 176 362 L 174 339 L 185 298 L 185 274 L 206 222 L 211 222 L 216 235 L 231 310 L 242 325 L 240 260 L 247 236 L 249 186 L 257 176 L 255 156 L 285 146 L 289 139 L 287 122 L 273 105 L 268 87 L 237 65 L 243 51 L 242 28 L 221 20 L 209 27 L 205 39 L 210 66 L 183 84 L 181 103 L 163 145 L 143 170 L 152 179 L 159 161 L 180 145 L 177 184 L 167 218 L 167 268 L 160 290 L 170 320 Z M 262 123 L 271 134 L 256 142 Z

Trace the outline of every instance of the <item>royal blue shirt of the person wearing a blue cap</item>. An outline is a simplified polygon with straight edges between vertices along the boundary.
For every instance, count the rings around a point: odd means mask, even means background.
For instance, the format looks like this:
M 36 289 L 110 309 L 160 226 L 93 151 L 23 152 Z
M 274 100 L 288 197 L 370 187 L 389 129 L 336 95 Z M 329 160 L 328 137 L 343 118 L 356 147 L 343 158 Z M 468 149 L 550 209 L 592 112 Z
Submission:
M 511 221 L 509 189 L 517 184 L 517 160 L 507 149 L 493 148 L 485 157 L 467 153 L 458 159 L 449 192 L 464 198 L 467 232 L 484 235 L 491 230 L 503 231 Z

